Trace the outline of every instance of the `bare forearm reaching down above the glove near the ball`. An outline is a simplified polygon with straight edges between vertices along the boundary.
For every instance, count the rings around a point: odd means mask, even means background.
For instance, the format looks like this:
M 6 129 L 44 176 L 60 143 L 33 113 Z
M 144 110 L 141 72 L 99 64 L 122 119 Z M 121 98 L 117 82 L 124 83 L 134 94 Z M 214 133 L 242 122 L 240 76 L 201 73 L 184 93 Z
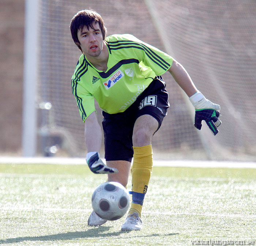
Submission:
M 89 115 L 85 121 L 84 136 L 87 152 L 99 152 L 101 149 L 102 131 L 95 112 Z

